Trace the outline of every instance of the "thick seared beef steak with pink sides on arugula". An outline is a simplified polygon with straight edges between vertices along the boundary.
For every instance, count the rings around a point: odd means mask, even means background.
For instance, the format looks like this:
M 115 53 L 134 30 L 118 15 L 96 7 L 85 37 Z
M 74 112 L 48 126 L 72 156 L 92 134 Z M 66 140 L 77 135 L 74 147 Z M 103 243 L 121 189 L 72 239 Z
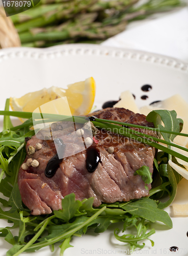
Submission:
M 153 127 L 144 115 L 123 108 L 109 108 L 95 112 L 94 115 L 102 119 Z M 139 131 L 156 136 L 155 132 L 149 130 Z M 63 134 L 67 136 L 67 140 L 70 138 L 66 150 L 74 150 L 72 142 L 76 142 L 77 138 L 68 129 L 56 133 L 60 139 Z M 95 139 L 98 143 L 94 140 L 87 150 L 65 157 L 51 178 L 45 176 L 44 170 L 48 161 L 57 153 L 55 143 L 36 136 L 28 140 L 27 152 L 29 147 L 36 147 L 37 143 L 42 145 L 40 150 L 27 155 L 24 161 L 25 163 L 29 158 L 36 159 L 39 165 L 30 166 L 26 170 L 20 167 L 18 175 L 22 201 L 32 215 L 50 214 L 52 210 L 61 209 L 62 198 L 70 193 L 75 194 L 76 200 L 94 197 L 94 206 L 99 206 L 101 202 L 129 201 L 149 196 L 142 177 L 134 176 L 134 173 L 143 165 L 149 166 L 150 172 L 153 172 L 154 148 L 100 129 Z M 111 154 L 108 152 L 109 147 L 114 148 Z M 92 162 L 96 166 L 90 166 Z M 151 184 L 148 187 L 150 189 Z

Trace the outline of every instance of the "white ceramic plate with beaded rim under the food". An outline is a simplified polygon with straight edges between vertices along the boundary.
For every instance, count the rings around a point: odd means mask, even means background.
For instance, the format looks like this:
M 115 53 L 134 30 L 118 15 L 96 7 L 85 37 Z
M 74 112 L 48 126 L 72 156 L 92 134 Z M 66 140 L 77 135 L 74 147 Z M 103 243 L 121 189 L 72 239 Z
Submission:
M 130 90 L 136 96 L 139 106 L 155 100 L 163 100 L 179 93 L 188 101 L 188 64 L 177 59 L 135 50 L 107 48 L 97 45 L 64 45 L 48 49 L 12 48 L 0 51 L 1 101 L 10 96 L 20 97 L 25 93 L 44 87 L 58 86 L 85 80 L 93 76 L 97 91 L 95 104 L 97 109 L 107 100 L 118 100 L 120 93 Z M 141 87 L 150 84 L 152 90 L 144 93 Z M 141 96 L 147 95 L 147 100 Z M 14 120 L 14 122 L 17 122 Z M 1 119 L 2 125 L 2 119 Z M 178 185 L 176 202 L 188 203 L 187 182 L 183 179 Z M 146 240 L 146 246 L 135 254 L 144 255 L 188 255 L 188 219 L 174 217 L 172 206 L 166 209 L 172 218 L 173 229 L 161 223 L 152 224 L 156 233 L 151 237 L 155 245 Z M 7 222 L 0 220 L 0 226 Z M 117 225 L 116 225 L 117 226 Z M 112 225 L 108 231 L 95 234 L 89 231 L 82 238 L 75 237 L 64 255 L 123 255 L 129 254 L 128 247 L 113 238 Z M 14 231 L 15 232 L 15 231 Z M 169 248 L 177 246 L 178 253 Z M 0 239 L 0 256 L 6 254 L 10 245 Z M 27 255 L 59 255 L 59 248 L 51 253 L 43 248 Z

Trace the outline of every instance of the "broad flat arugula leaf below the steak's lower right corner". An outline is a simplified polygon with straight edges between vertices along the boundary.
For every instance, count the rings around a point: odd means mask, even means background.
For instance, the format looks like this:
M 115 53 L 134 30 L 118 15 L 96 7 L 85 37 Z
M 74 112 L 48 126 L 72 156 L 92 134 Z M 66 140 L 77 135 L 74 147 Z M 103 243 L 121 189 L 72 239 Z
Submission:
M 121 208 L 130 212 L 130 214 L 131 211 L 134 210 L 133 214 L 140 218 L 144 218 L 151 222 L 160 221 L 172 228 L 172 220 L 167 212 L 157 208 L 156 201 L 150 198 L 143 198 L 141 200 L 133 201 L 122 206 Z

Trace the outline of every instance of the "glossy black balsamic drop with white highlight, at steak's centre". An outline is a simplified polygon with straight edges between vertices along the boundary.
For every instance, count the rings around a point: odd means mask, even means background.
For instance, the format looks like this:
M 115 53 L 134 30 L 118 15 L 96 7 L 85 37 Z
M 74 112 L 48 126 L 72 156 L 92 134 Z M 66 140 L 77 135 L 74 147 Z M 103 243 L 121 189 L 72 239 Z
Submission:
M 86 168 L 89 173 L 93 173 L 100 160 L 100 152 L 95 147 L 89 147 L 86 151 Z

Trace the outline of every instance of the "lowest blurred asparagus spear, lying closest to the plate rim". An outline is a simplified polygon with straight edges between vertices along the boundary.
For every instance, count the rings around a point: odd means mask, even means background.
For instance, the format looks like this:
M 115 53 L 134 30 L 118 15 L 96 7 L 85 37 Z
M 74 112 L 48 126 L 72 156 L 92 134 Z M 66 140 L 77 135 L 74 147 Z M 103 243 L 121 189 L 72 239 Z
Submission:
M 24 44 L 31 41 L 66 40 L 69 38 L 106 39 L 125 29 L 123 21 L 116 26 L 102 27 L 101 23 L 93 23 L 97 13 L 81 14 L 75 22 L 66 22 L 58 27 L 32 29 L 29 32 L 20 33 L 20 40 Z

